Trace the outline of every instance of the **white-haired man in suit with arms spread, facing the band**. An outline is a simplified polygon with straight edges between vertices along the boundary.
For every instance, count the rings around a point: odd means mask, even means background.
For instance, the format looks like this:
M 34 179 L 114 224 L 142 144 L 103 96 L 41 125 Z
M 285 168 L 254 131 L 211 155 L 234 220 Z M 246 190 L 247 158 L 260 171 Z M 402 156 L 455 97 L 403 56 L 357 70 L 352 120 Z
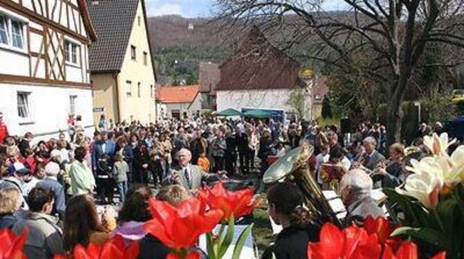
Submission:
M 202 180 L 217 181 L 226 178 L 225 172 L 217 172 L 217 174 L 208 174 L 199 166 L 190 164 L 192 153 L 186 148 L 182 148 L 177 152 L 177 160 L 179 165 L 172 168 L 168 175 L 163 179 L 163 185 L 180 184 L 188 190 L 194 190 L 202 186 Z

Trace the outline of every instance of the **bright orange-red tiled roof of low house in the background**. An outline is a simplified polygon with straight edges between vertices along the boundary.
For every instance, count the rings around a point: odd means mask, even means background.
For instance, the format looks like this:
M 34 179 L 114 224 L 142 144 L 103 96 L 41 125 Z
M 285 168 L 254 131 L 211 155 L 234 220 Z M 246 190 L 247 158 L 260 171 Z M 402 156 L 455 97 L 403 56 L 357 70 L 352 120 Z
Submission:
M 163 103 L 193 102 L 199 92 L 199 85 L 181 87 L 157 87 L 157 99 Z

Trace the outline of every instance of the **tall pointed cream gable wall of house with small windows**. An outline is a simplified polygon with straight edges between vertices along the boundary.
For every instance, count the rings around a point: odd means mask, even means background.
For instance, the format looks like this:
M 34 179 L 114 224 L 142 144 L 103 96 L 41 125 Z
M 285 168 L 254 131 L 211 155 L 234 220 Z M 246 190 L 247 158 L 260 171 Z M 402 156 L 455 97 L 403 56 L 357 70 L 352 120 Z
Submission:
M 121 73 L 119 74 L 119 98 L 121 102 L 121 120 L 140 120 L 150 123 L 156 120 L 155 78 L 152 67 L 152 56 L 145 28 L 142 1 L 139 1 L 129 44 L 127 44 Z M 138 17 L 141 19 L 139 25 Z M 131 45 L 136 46 L 136 60 L 131 59 Z M 143 52 L 148 53 L 147 64 L 143 63 Z M 131 94 L 127 94 L 126 82 L 132 82 Z M 141 95 L 138 84 L 141 84 Z M 150 86 L 153 86 L 152 88 Z M 150 92 L 152 89 L 152 92 Z

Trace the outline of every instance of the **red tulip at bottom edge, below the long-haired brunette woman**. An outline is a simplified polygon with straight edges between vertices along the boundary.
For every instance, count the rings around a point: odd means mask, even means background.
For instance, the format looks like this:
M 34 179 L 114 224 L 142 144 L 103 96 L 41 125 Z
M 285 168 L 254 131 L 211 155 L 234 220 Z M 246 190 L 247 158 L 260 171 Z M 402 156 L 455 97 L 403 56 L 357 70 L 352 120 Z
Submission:
M 73 251 L 73 259 L 134 259 L 139 256 L 139 243 L 132 242 L 127 247 L 120 235 L 111 238 L 102 246 L 89 244 L 84 247 L 78 244 Z M 64 259 L 64 256 L 55 256 L 54 259 Z

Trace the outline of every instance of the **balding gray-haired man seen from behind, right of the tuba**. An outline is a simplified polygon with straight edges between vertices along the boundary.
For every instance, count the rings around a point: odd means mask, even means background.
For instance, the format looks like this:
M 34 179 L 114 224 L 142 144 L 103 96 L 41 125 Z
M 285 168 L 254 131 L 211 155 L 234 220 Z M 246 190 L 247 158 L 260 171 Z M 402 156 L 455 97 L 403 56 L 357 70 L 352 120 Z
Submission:
M 347 172 L 340 180 L 341 201 L 346 206 L 345 225 L 360 222 L 368 217 L 385 217 L 384 211 L 371 197 L 373 181 L 366 172 L 354 169 Z

